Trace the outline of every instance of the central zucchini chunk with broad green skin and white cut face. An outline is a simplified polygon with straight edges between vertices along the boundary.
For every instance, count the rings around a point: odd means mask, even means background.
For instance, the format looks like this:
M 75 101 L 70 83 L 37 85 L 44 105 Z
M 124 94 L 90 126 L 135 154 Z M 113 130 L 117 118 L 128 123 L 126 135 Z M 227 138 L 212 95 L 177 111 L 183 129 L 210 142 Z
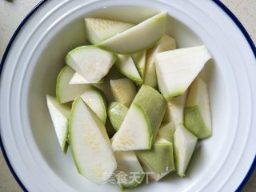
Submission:
M 126 118 L 112 138 L 114 150 L 149 150 L 166 110 L 166 100 L 158 91 L 143 85 Z

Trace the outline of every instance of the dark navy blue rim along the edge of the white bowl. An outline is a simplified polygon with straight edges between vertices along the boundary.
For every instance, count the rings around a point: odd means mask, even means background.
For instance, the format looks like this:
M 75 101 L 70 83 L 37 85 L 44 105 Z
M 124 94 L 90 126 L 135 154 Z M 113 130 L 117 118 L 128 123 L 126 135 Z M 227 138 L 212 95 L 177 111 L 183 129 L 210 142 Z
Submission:
M 6 46 L 6 50 L 5 50 L 5 52 L 2 56 L 2 60 L 1 60 L 1 63 L 0 63 L 0 77 L 1 77 L 1 74 L 2 74 L 2 68 L 3 68 L 4 63 L 6 61 L 6 57 L 9 53 L 9 50 L 10 50 L 10 47 L 12 46 L 12 44 L 14 42 L 14 39 L 17 37 L 19 31 L 22 29 L 22 26 L 24 26 L 26 24 L 26 22 L 29 20 L 29 18 L 32 16 L 32 14 L 34 14 L 36 12 L 36 10 L 38 10 L 47 1 L 48 0 L 42 0 L 41 2 L 38 2 L 38 4 L 36 6 L 34 6 L 34 9 L 31 10 L 30 13 L 27 14 L 26 17 L 22 20 L 22 22 L 19 24 L 17 30 L 14 31 L 14 34 L 10 38 L 10 42 Z M 255 48 L 254 42 L 250 38 L 250 35 L 246 31 L 245 27 L 242 26 L 242 23 L 238 20 L 238 18 L 222 2 L 220 2 L 219 0 L 211 0 L 211 1 L 216 3 L 217 6 L 219 6 L 227 15 L 229 15 L 231 20 L 238 26 L 239 30 L 241 30 L 242 34 L 246 38 L 246 41 L 248 42 L 248 44 L 249 44 L 249 46 L 250 46 L 251 50 L 253 51 L 254 56 L 256 58 L 256 48 Z M 2 149 L 3 157 L 6 160 L 6 164 L 10 169 L 10 172 L 14 175 L 14 178 L 15 178 L 16 182 L 18 182 L 18 185 L 22 188 L 22 190 L 27 192 L 28 190 L 26 190 L 26 187 L 23 185 L 21 180 L 18 178 L 18 175 L 15 173 L 14 168 L 10 164 L 10 160 L 7 157 L 6 150 L 5 150 L 5 148 L 3 146 L 3 143 L 2 143 L 1 132 L 0 132 L 0 147 Z M 242 182 L 238 186 L 237 190 L 235 190 L 236 192 L 242 191 L 244 186 L 246 186 L 246 183 L 249 181 L 251 175 L 254 173 L 255 168 L 256 168 L 256 154 L 254 156 L 254 161 L 251 164 L 250 169 L 247 171 L 247 174 L 246 174 L 245 178 L 242 180 Z

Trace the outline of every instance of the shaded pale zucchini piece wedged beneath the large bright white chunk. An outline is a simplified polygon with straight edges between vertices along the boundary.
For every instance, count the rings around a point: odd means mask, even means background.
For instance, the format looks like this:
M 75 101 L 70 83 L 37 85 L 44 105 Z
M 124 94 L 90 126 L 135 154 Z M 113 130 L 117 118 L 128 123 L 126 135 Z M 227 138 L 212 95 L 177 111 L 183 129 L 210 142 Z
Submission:
M 175 126 L 178 124 L 183 124 L 184 121 L 184 107 L 186 102 L 186 96 L 188 91 L 178 97 L 172 98 L 170 102 L 168 102 L 168 106 L 166 108 L 165 116 L 162 122 L 174 122 Z

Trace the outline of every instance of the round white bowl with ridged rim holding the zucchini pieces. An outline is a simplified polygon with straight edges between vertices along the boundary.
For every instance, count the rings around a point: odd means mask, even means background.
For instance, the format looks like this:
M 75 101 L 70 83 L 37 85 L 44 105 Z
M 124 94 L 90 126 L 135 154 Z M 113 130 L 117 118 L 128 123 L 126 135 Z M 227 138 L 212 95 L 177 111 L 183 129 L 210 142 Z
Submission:
M 85 16 L 140 22 L 161 10 L 169 15 L 167 34 L 178 47 L 204 44 L 213 56 L 202 77 L 210 90 L 214 134 L 198 143 L 186 178 L 170 174 L 134 191 L 241 190 L 255 166 L 256 51 L 234 15 L 221 7 L 218 1 L 42 1 L 19 26 L 1 66 L 2 150 L 23 190 L 119 190 L 83 178 L 70 152 L 62 154 L 46 94 L 54 95 L 67 52 L 86 44 Z

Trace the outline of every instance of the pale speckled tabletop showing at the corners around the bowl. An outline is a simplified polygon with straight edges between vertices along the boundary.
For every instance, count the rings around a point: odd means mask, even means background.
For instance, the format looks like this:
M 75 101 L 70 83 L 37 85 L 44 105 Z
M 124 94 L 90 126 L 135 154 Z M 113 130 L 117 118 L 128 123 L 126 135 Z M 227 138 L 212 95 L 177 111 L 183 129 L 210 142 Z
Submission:
M 38 2 L 38 0 L 0 0 L 0 60 L 14 30 L 22 21 L 22 18 L 24 18 Z M 222 0 L 222 2 L 238 17 L 253 39 L 254 44 L 256 44 L 256 1 Z M 2 151 L 0 152 L 0 191 L 22 191 L 12 174 L 10 174 L 10 170 L 2 157 Z M 256 191 L 256 170 L 254 170 L 254 174 L 243 191 Z

